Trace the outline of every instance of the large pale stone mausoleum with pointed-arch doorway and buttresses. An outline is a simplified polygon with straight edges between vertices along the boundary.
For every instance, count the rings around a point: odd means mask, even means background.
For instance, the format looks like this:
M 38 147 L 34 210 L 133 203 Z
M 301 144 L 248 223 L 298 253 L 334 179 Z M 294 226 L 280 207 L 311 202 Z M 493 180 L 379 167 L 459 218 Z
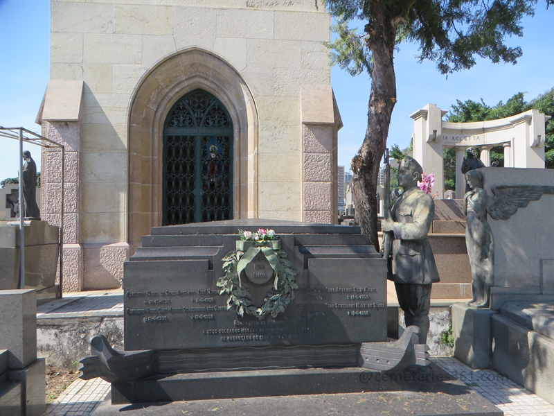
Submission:
M 37 116 L 65 146 L 64 291 L 116 288 L 151 227 L 334 223 L 330 16 L 313 0 L 51 1 Z M 42 153 L 60 223 L 61 153 Z

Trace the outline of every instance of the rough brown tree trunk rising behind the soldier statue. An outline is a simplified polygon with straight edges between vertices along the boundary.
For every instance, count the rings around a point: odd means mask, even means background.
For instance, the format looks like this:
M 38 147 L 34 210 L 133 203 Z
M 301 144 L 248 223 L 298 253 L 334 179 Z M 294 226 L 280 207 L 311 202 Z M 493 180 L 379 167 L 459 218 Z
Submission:
M 377 0 L 372 3 L 373 13 L 367 39 L 373 58 L 368 128 L 364 143 L 352 159 L 351 166 L 356 221 L 361 227 L 361 232 L 369 236 L 369 241 L 375 245 L 377 252 L 377 176 L 396 103 L 393 65 L 396 30 L 391 19 L 386 17 L 384 1 Z

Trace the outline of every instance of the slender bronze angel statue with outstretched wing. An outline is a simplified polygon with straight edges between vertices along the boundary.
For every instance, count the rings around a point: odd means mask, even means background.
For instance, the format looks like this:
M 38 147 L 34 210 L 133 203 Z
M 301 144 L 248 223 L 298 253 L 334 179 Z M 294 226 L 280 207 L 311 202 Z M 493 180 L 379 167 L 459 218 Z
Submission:
M 475 308 L 487 308 L 494 275 L 494 239 L 487 214 L 495 220 L 507 220 L 518 208 L 539 200 L 543 193 L 554 193 L 554 186 L 499 186 L 489 196 L 483 189 L 483 174 L 465 174 L 470 191 L 464 196 L 465 245 L 472 269 L 473 299 L 467 302 Z

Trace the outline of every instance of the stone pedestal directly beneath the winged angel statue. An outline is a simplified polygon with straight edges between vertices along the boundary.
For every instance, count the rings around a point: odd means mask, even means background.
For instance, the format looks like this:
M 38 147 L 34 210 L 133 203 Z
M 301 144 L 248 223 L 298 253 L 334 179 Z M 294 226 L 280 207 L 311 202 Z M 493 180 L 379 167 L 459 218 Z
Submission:
M 452 304 L 454 356 L 476 370 L 492 363 L 490 309 L 473 309 L 466 304 Z

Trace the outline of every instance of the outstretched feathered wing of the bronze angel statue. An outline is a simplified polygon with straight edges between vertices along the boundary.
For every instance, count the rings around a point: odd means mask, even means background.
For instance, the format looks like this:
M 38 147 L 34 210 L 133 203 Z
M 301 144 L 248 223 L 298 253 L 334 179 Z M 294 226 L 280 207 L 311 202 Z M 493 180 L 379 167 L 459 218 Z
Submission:
M 491 191 L 494 197 L 488 198 L 487 212 L 495 220 L 507 220 L 518 208 L 527 207 L 530 201 L 539 200 L 544 193 L 554 194 L 554 186 L 499 186 L 492 187 Z

